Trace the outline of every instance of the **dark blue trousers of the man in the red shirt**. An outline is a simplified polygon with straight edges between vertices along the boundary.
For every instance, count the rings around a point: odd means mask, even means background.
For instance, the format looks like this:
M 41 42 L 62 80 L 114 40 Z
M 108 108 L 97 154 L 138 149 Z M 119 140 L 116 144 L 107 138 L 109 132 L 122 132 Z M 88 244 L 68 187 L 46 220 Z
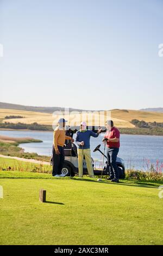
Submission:
M 107 148 L 108 164 L 110 166 L 110 178 L 118 179 L 118 167 L 116 159 L 118 155 L 118 148 Z

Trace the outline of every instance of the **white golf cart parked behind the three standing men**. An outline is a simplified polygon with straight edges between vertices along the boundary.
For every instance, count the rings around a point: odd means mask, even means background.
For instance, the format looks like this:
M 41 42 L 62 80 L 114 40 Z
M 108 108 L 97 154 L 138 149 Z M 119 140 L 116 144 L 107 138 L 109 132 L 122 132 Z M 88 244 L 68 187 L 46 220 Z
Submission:
M 93 129 L 96 130 L 96 129 Z M 73 137 L 74 131 L 69 131 L 67 132 L 66 135 Z M 100 150 L 101 144 L 99 144 L 93 152 L 99 151 L 104 158 L 107 160 L 106 155 L 102 153 Z M 66 141 L 65 147 L 65 162 L 64 162 L 64 167 L 62 168 L 62 174 L 65 174 L 66 176 L 74 176 L 78 174 L 78 152 L 77 152 L 77 146 L 76 144 L 72 143 L 71 141 Z M 91 157 L 92 159 L 92 157 Z M 118 175 L 120 179 L 125 178 L 125 167 L 124 167 L 124 161 L 120 158 L 117 157 L 117 167 L 118 167 Z M 53 164 L 53 159 L 51 159 L 51 165 Z M 94 167 L 94 160 L 92 159 L 92 167 Z M 102 174 L 102 169 L 94 169 L 93 172 L 95 175 L 101 175 Z M 87 172 L 87 167 L 86 167 L 86 161 L 85 157 L 83 159 L 83 174 L 88 174 Z M 104 167 L 103 167 L 103 175 L 109 175 L 110 174 L 110 166 L 108 164 L 108 161 L 105 161 Z

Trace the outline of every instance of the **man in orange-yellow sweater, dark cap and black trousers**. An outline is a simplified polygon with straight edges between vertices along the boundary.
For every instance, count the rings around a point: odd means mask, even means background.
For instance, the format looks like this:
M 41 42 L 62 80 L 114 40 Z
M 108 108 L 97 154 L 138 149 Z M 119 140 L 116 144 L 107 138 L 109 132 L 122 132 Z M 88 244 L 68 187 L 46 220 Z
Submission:
M 65 153 L 64 153 L 64 144 L 65 139 L 73 138 L 65 135 L 65 123 L 67 120 L 60 118 L 58 121 L 58 126 L 55 128 L 53 133 L 53 172 L 52 175 L 55 177 L 64 177 L 64 174 L 61 174 L 61 170 L 64 166 Z

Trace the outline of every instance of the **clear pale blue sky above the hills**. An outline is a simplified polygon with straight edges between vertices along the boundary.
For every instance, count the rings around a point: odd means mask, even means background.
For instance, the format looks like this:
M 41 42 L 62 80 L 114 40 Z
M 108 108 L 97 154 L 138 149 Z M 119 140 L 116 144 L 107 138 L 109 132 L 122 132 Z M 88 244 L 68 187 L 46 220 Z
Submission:
M 162 107 L 162 0 L 0 0 L 0 101 Z

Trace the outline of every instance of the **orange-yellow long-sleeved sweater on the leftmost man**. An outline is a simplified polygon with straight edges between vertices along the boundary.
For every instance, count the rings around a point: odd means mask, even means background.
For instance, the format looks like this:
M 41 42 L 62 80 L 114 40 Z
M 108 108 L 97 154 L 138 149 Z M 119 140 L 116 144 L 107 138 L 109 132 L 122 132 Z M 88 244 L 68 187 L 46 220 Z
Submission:
M 71 139 L 71 137 L 65 135 L 65 129 L 59 130 L 57 126 L 53 133 L 53 144 L 55 151 L 58 150 L 58 146 L 64 147 L 65 139 Z

